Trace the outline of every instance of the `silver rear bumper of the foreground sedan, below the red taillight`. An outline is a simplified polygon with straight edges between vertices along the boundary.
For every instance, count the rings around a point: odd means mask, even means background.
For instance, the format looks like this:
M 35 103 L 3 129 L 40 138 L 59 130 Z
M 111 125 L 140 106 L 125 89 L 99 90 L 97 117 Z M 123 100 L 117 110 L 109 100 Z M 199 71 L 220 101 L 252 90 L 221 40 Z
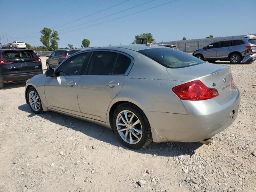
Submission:
M 232 94 L 220 104 L 214 99 L 182 102 L 188 114 L 145 111 L 154 142 L 198 142 L 218 134 L 236 119 L 240 92 L 234 86 Z

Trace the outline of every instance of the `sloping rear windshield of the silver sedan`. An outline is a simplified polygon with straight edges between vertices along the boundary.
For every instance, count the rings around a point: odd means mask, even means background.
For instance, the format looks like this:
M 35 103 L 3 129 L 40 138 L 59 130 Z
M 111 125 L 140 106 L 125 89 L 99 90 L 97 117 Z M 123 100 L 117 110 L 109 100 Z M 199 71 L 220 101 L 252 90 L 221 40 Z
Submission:
M 144 49 L 138 52 L 168 68 L 182 68 L 204 63 L 192 55 L 170 48 Z

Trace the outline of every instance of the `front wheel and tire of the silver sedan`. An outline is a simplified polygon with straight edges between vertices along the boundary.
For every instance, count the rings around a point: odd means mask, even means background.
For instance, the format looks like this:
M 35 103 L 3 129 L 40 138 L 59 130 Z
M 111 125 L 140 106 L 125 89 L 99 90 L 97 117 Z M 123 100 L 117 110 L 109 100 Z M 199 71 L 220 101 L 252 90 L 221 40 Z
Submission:
M 27 100 L 29 103 L 28 105 L 29 105 L 30 109 L 32 110 L 32 112 L 34 112 L 36 114 L 40 114 L 40 113 L 44 112 L 43 108 L 42 108 L 42 102 L 41 102 L 40 96 L 34 87 L 28 88 L 28 92 L 27 92 L 26 96 L 27 96 Z M 36 103 L 35 103 L 35 101 L 36 101 Z M 34 102 L 34 104 L 33 104 L 33 102 Z

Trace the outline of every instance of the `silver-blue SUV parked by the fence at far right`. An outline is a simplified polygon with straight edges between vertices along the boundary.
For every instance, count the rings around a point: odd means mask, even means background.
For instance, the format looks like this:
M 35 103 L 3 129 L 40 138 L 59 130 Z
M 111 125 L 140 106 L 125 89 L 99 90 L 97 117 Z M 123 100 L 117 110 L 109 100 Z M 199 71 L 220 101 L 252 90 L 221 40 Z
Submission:
M 252 62 L 256 58 L 256 38 L 218 41 L 193 52 L 204 61 L 230 61 L 232 64 Z

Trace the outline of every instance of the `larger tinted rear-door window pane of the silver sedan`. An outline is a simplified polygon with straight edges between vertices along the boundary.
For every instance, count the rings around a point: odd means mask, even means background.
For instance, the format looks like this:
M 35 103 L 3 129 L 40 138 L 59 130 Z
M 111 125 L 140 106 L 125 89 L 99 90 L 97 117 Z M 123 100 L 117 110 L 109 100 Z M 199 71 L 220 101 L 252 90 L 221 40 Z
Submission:
M 109 51 L 96 51 L 92 53 L 88 75 L 111 75 L 118 53 Z

